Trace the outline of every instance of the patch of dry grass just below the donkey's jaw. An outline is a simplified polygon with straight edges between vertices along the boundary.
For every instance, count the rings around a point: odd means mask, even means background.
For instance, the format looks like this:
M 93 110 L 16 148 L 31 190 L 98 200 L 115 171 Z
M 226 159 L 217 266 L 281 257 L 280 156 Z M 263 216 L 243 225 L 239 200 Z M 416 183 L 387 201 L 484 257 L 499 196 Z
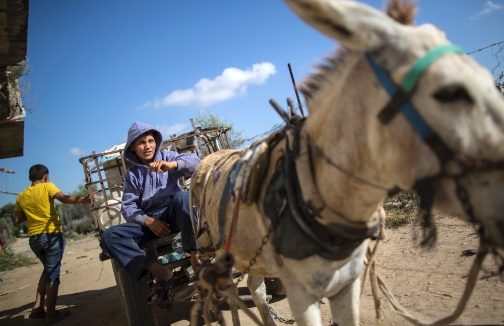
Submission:
M 383 206 L 387 212 L 387 226 L 397 228 L 410 224 L 418 214 L 420 198 L 413 192 L 403 191 L 389 200 Z

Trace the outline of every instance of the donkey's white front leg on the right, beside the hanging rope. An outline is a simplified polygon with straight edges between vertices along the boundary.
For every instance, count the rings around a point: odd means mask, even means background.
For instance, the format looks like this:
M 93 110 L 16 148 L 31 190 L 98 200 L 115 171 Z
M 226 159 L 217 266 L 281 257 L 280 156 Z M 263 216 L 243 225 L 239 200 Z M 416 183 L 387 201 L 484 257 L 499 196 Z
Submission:
M 360 279 L 345 286 L 329 298 L 333 323 L 338 326 L 359 325 Z

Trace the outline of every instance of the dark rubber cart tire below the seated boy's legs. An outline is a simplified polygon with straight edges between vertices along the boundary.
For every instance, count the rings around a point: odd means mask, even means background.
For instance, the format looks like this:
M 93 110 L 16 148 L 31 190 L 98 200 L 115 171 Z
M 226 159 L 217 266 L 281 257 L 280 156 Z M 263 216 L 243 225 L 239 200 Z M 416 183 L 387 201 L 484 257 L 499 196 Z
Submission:
M 147 304 L 147 295 L 150 292 L 147 279 L 144 277 L 140 279 L 140 282 L 136 282 L 115 259 L 110 261 L 128 324 L 130 326 L 157 326 L 154 306 Z

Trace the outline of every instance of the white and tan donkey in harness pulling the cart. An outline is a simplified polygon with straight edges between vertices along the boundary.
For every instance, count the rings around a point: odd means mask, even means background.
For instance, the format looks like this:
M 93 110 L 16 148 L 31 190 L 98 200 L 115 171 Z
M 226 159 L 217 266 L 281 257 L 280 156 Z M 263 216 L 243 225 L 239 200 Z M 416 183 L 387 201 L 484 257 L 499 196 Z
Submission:
M 342 49 L 305 81 L 306 120 L 270 143 L 256 200 L 240 206 L 231 253 L 245 269 L 273 228 L 248 278 L 265 324 L 275 323 L 263 277 L 279 277 L 299 325 L 321 325 L 320 297 L 329 298 L 335 324 L 358 325 L 366 237 L 389 190 L 415 189 L 426 206 L 479 223 L 484 239 L 504 246 L 504 101 L 489 72 L 435 26 L 401 24 L 352 1 L 285 2 Z M 414 8 L 394 6 L 414 16 Z M 239 155 L 212 165 L 225 154 L 204 159 L 191 188 L 214 246 L 221 232 L 227 236 L 234 208 L 221 197 Z M 302 199 L 293 202 L 296 177 Z M 303 210 L 301 218 L 312 218 L 304 233 L 285 222 Z

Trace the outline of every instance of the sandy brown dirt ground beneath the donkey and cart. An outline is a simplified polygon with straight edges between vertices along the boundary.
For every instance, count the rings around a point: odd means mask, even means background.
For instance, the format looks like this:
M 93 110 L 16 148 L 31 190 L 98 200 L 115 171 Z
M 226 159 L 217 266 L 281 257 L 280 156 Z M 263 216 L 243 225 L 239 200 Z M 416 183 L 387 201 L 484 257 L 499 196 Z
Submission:
M 474 257 L 461 256 L 465 249 L 477 249 L 475 227 L 458 219 L 438 220 L 438 240 L 431 249 L 423 249 L 414 239 L 412 225 L 387 231 L 381 252 L 377 257 L 378 272 L 403 304 L 416 316 L 427 320 L 445 316 L 452 312 L 462 295 L 466 276 Z M 18 240 L 16 252 L 31 253 L 27 239 Z M 59 326 L 75 325 L 127 325 L 119 301 L 110 261 L 103 264 L 98 259 L 100 252 L 96 238 L 89 237 L 68 242 L 63 258 L 58 308 L 69 308 L 72 314 L 58 322 Z M 487 258 L 485 270 L 480 274 L 476 289 L 462 316 L 454 323 L 460 325 L 504 325 L 504 280 L 495 276 L 497 267 L 494 258 Z M 28 319 L 35 298 L 36 286 L 28 286 L 14 293 L 3 293 L 36 283 L 41 273 L 41 264 L 16 268 L 3 277 L 0 288 L 0 324 L 43 325 L 42 320 Z M 245 281 L 240 283 L 240 294 L 245 294 Z M 329 302 L 321 304 L 323 324 L 332 323 Z M 274 297 L 270 302 L 273 309 L 286 319 L 291 318 L 285 297 Z M 257 314 L 253 302 L 248 306 Z M 391 311 L 382 296 L 386 321 L 383 325 L 407 325 L 404 318 Z M 158 309 L 159 325 L 188 325 L 190 303 L 177 304 L 173 310 Z M 222 305 L 224 316 L 231 324 L 229 308 Z M 361 297 L 360 325 L 373 325 L 374 305 L 369 285 Z M 240 311 L 242 325 L 253 322 Z M 200 317 L 201 325 L 204 324 Z M 216 324 L 214 322 L 214 324 Z M 277 324 L 279 324 L 277 322 Z

